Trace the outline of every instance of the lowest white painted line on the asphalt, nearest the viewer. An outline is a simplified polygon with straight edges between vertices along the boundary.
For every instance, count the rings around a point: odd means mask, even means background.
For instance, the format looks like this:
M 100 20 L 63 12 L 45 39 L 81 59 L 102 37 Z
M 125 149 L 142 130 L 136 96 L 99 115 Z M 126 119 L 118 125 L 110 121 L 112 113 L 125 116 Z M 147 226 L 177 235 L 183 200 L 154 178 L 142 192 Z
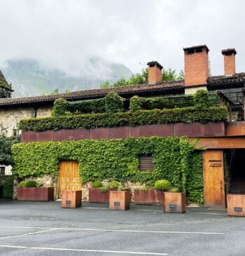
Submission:
M 71 249 L 71 248 L 50 248 L 50 247 L 27 247 L 27 246 L 16 246 L 16 245 L 0 245 L 2 248 L 20 248 L 20 249 L 31 249 L 31 250 L 59 250 L 68 252 L 104 252 L 104 253 L 124 253 L 132 255 L 168 255 L 167 253 L 161 252 L 127 252 L 121 250 L 86 250 L 86 249 Z

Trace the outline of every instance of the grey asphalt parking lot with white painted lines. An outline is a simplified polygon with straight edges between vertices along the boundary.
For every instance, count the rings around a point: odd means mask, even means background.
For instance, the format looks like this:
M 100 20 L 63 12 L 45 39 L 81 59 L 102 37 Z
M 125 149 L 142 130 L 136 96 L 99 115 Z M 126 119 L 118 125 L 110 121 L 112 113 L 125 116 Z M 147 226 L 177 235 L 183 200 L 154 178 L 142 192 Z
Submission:
M 245 255 L 245 218 L 224 208 L 108 207 L 2 200 L 0 255 Z

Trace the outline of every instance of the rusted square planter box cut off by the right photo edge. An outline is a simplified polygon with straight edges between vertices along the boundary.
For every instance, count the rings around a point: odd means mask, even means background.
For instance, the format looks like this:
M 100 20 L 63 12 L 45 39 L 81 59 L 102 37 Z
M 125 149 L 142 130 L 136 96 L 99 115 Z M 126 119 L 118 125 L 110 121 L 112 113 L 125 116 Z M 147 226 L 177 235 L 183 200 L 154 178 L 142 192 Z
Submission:
M 245 216 L 245 194 L 228 194 L 227 210 L 230 216 Z

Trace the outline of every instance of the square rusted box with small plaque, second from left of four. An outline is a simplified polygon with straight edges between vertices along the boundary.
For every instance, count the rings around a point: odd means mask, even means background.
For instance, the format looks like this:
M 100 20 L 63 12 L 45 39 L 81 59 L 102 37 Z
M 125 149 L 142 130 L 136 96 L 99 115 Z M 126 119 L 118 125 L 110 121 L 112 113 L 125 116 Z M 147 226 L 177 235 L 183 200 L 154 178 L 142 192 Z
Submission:
M 109 191 L 110 210 L 130 209 L 130 191 Z

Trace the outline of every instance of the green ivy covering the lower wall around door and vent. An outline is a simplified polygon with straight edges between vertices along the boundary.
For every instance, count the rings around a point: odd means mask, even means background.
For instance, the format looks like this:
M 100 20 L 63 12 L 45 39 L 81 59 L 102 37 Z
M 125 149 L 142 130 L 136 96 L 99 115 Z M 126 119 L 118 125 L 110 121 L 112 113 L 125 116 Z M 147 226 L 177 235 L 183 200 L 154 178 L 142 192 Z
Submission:
M 130 180 L 153 186 L 156 180 L 166 179 L 174 187 L 190 194 L 192 201 L 201 202 L 200 198 L 203 198 L 199 176 L 202 173 L 202 156 L 200 151 L 195 151 L 194 142 L 183 137 L 29 142 L 15 144 L 12 150 L 15 161 L 13 173 L 19 177 L 55 177 L 59 161 L 74 160 L 78 161 L 82 182 Z M 154 170 L 139 170 L 139 156 L 142 154 L 153 155 Z

